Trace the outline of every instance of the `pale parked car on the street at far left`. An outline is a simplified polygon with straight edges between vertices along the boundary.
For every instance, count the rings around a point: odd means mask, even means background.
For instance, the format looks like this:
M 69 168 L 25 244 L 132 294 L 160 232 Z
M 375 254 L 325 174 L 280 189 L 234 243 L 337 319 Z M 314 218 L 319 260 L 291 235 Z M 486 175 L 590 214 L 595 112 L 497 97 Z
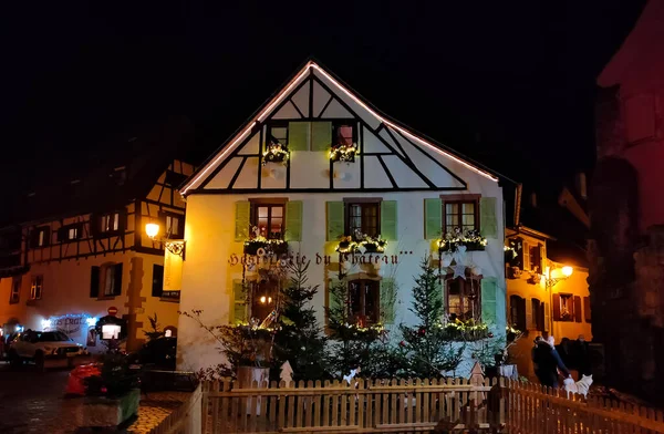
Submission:
M 83 354 L 83 345 L 74 342 L 61 331 L 32 331 L 21 333 L 11 343 L 9 362 L 19 365 L 33 361 L 43 370 L 46 359 L 65 359 Z

